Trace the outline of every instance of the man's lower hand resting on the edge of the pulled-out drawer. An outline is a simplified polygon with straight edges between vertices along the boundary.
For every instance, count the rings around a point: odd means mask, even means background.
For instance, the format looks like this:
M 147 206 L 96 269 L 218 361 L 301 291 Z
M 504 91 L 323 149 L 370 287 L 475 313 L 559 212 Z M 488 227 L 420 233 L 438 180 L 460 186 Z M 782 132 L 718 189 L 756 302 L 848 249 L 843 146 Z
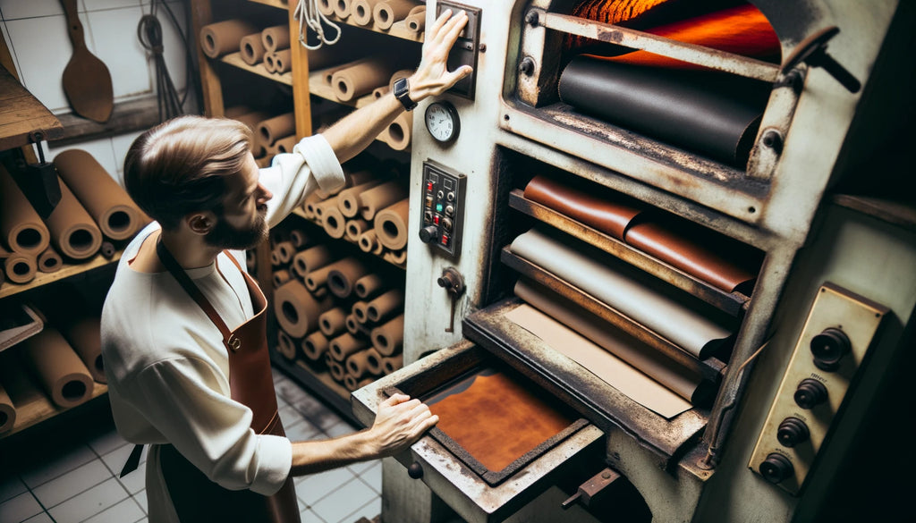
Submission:
M 406 450 L 437 422 L 439 417 L 419 399 L 396 394 L 378 404 L 369 434 L 378 455 L 391 456 Z

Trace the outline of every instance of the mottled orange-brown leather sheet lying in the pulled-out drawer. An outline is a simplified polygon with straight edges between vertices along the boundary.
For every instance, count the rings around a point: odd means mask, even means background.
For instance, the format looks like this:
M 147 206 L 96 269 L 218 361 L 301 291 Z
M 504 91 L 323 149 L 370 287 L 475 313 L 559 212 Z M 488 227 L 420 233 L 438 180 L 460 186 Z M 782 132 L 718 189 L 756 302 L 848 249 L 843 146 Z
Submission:
M 430 406 L 436 427 L 493 472 L 534 450 L 573 423 L 501 372 L 475 376 L 474 384 Z

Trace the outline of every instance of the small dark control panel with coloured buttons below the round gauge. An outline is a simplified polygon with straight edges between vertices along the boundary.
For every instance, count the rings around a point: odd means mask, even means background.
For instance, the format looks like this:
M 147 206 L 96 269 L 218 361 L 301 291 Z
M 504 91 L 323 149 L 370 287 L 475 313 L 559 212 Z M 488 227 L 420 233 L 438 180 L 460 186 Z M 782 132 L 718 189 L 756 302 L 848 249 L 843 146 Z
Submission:
M 464 187 L 467 177 L 429 160 L 423 163 L 423 212 L 420 241 L 448 256 L 461 254 Z

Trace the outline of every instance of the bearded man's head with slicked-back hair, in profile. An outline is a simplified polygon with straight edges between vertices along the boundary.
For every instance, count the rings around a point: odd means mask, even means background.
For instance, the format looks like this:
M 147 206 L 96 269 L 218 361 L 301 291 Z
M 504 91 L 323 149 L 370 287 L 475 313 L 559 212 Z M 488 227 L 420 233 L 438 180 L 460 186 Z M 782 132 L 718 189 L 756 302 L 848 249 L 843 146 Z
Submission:
M 267 234 L 251 131 L 222 118 L 180 116 L 136 138 L 125 187 L 165 230 L 187 223 L 211 245 L 247 248 Z

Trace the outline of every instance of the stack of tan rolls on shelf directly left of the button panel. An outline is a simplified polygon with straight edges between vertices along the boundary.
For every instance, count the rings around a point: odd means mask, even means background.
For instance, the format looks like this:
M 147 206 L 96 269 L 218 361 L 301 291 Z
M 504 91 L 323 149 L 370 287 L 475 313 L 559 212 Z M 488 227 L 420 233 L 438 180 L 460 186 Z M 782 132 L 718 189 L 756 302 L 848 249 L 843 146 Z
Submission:
M 334 194 L 313 192 L 303 204 L 305 217 L 335 239 L 359 245 L 403 267 L 407 263 L 407 180 L 387 171 L 355 170 Z

